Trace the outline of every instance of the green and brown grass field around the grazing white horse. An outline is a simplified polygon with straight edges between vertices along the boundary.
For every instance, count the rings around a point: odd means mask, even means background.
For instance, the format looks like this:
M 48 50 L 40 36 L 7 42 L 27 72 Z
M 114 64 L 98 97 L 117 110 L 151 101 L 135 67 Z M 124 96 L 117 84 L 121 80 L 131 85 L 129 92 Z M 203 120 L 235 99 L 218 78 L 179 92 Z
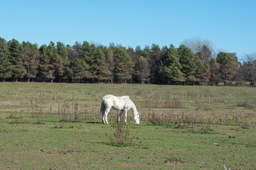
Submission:
M 106 94 L 141 113 L 122 145 Z M 256 169 L 255 108 L 251 87 L 0 83 L 0 169 Z

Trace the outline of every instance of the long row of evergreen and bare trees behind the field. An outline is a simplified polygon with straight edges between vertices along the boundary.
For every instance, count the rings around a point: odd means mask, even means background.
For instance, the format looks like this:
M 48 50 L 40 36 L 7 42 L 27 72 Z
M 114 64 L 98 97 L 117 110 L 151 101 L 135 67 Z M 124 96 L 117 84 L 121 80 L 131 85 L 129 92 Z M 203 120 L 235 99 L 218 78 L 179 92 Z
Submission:
M 184 44 L 153 44 L 134 50 L 114 43 L 107 47 L 84 41 L 73 46 L 50 42 L 38 47 L 0 38 L 0 79 L 142 84 L 226 84 L 235 80 L 254 84 L 255 55 L 247 55 L 241 64 L 234 52 L 215 55 L 208 43 Z

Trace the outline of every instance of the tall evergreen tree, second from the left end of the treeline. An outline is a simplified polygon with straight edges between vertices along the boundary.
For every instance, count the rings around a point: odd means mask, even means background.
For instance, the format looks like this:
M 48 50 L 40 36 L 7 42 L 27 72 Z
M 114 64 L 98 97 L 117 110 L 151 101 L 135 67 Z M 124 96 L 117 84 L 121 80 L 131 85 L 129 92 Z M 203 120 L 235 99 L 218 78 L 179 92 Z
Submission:
M 26 69 L 23 66 L 24 55 L 23 47 L 18 42 L 18 40 L 12 39 L 8 42 L 9 52 L 10 52 L 10 62 L 12 65 L 12 77 L 18 81 L 18 79 L 23 79 L 26 74 Z

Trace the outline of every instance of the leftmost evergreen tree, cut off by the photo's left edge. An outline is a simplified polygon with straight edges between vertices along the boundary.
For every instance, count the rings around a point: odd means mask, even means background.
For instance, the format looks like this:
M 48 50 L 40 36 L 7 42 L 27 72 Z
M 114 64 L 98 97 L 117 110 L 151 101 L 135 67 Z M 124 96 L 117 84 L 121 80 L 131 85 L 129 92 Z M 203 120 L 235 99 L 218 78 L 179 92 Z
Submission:
M 0 78 L 5 81 L 11 77 L 11 62 L 9 62 L 9 48 L 6 40 L 0 38 Z

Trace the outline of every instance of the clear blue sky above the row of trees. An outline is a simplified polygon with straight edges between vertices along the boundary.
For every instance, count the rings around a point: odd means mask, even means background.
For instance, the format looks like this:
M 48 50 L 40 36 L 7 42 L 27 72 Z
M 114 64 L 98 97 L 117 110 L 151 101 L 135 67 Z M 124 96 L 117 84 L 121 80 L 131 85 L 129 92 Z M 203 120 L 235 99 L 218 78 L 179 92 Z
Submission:
M 0 0 L 0 37 L 125 47 L 210 40 L 216 50 L 256 52 L 256 0 Z

